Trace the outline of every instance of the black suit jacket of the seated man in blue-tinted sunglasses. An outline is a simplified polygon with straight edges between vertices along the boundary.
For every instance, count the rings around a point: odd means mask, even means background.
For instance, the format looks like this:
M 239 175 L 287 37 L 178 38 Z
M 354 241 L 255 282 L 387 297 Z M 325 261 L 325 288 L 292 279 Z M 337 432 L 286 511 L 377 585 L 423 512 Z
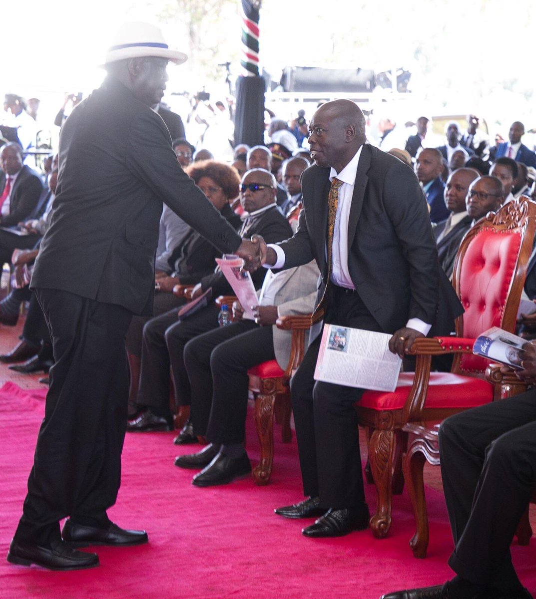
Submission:
M 252 235 L 262 235 L 266 243 L 276 243 L 290 237 L 292 228 L 288 224 L 288 220 L 279 211 L 279 208 L 273 206 L 269 210 L 257 214 L 257 216 L 246 219 L 240 229 L 240 235 L 244 238 L 249 238 Z M 265 274 L 266 268 L 262 267 L 251 273 L 255 289 L 261 288 Z M 218 295 L 234 294 L 233 288 L 231 288 L 219 268 L 214 273 L 201 279 L 203 291 L 206 291 L 209 287 L 212 287 L 213 298 L 218 297 Z

